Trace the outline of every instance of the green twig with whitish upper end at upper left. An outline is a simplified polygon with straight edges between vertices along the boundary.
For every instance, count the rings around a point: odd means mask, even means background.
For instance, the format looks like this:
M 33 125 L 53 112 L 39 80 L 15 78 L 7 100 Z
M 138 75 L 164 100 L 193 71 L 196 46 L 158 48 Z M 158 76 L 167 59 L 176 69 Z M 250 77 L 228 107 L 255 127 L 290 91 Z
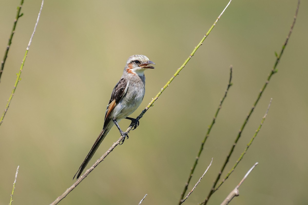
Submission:
M 0 118 L 0 125 L 1 125 L 2 122 L 3 122 L 3 118 L 4 118 L 5 114 L 6 114 L 7 109 L 10 107 L 10 103 L 11 103 L 11 100 L 12 100 L 12 98 L 13 98 L 13 96 L 14 96 L 14 93 L 15 93 L 16 87 L 17 87 L 17 85 L 18 85 L 18 82 L 21 80 L 21 79 L 20 79 L 20 76 L 21 76 L 22 68 L 23 68 L 23 65 L 25 64 L 26 57 L 27 57 L 27 54 L 28 54 L 28 51 L 29 51 L 29 47 L 30 47 L 30 45 L 31 45 L 31 42 L 32 42 L 32 39 L 33 39 L 35 30 L 36 30 L 36 27 L 37 27 L 37 25 L 38 25 L 38 23 L 39 23 L 39 18 L 40 18 L 40 16 L 41 16 L 41 12 L 42 12 L 42 9 L 43 9 L 43 4 L 44 4 L 44 0 L 42 0 L 41 8 L 40 8 L 40 10 L 39 10 L 39 15 L 38 15 L 38 18 L 37 18 L 37 20 L 36 20 L 33 33 L 32 33 L 32 35 L 31 35 L 31 37 L 30 37 L 30 41 L 29 41 L 28 46 L 27 46 L 27 48 L 26 48 L 25 56 L 24 56 L 23 59 L 22 59 L 19 72 L 17 73 L 17 79 L 16 79 L 16 81 L 15 81 L 15 85 L 14 85 L 14 87 L 13 87 L 13 90 L 12 90 L 12 93 L 11 93 L 11 95 L 10 95 L 10 97 L 9 97 L 9 100 L 7 101 L 7 104 L 6 104 L 6 107 L 5 107 L 5 109 L 4 109 L 4 112 L 3 112 L 3 114 L 2 114 L 2 116 L 1 116 L 1 118 Z

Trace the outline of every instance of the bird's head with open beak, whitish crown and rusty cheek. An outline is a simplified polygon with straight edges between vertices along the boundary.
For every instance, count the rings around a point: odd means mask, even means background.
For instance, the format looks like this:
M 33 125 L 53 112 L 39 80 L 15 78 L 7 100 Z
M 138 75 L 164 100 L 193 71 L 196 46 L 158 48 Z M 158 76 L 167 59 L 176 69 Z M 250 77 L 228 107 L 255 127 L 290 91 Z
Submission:
M 131 74 L 137 74 L 137 75 L 143 75 L 144 71 L 148 68 L 153 69 L 153 66 L 150 66 L 150 64 L 154 64 L 154 62 L 150 61 L 148 57 L 144 55 L 133 55 L 128 58 L 126 62 L 126 66 L 124 68 L 124 72 L 131 73 Z

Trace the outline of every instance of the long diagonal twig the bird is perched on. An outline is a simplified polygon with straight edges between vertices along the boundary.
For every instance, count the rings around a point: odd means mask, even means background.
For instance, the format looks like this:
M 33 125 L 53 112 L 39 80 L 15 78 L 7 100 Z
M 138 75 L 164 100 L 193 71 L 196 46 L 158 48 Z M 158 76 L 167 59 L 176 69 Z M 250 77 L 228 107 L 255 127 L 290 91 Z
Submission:
M 210 27 L 210 29 L 208 30 L 208 32 L 205 34 L 205 36 L 201 39 L 201 41 L 199 42 L 199 44 L 193 49 L 193 52 L 189 55 L 189 57 L 184 61 L 184 63 L 181 65 L 180 68 L 178 68 L 176 70 L 176 72 L 174 73 L 174 75 L 170 78 L 170 80 L 166 83 L 166 85 L 164 85 L 163 88 L 160 89 L 160 91 L 158 92 L 158 94 L 152 99 L 152 101 L 148 104 L 148 106 L 146 108 L 144 108 L 144 110 L 140 113 L 140 115 L 138 117 L 136 117 L 137 120 L 140 120 L 144 113 L 148 111 L 148 109 L 150 107 L 153 106 L 153 103 L 158 99 L 158 97 L 161 95 L 161 93 L 163 93 L 163 91 L 170 85 L 170 83 L 173 81 L 173 79 L 180 73 L 180 71 L 185 67 L 185 65 L 188 63 L 188 61 L 191 59 L 191 57 L 193 57 L 193 55 L 196 53 L 197 49 L 202 45 L 203 41 L 205 40 L 205 38 L 211 33 L 211 31 L 213 30 L 214 26 L 217 24 L 218 20 L 220 19 L 221 15 L 225 12 L 226 8 L 229 6 L 230 2 L 232 0 L 229 1 L 228 5 L 225 7 L 225 9 L 221 12 L 221 14 L 218 16 L 218 18 L 216 19 L 216 21 L 214 22 L 214 24 Z M 126 132 L 129 132 L 133 127 L 134 127 L 135 123 L 131 123 L 129 125 L 129 127 L 127 128 Z M 60 195 L 53 203 L 51 203 L 50 205 L 55 205 L 58 204 L 62 199 L 64 199 L 101 161 L 104 160 L 104 158 L 118 145 L 120 144 L 120 142 L 124 139 L 125 136 L 122 136 L 115 142 L 113 143 L 113 145 L 103 154 L 103 156 L 101 158 L 99 158 L 95 164 L 92 165 L 92 167 L 90 167 L 81 177 L 79 177 L 79 179 L 71 186 L 69 187 L 62 195 Z

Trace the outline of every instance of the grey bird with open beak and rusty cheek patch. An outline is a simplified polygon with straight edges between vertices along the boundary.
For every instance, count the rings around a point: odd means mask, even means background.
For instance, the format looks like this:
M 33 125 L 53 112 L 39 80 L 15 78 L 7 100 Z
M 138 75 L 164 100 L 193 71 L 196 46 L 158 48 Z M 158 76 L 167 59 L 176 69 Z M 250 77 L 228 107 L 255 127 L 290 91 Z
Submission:
M 155 65 L 154 62 L 150 61 L 149 58 L 144 55 L 133 55 L 128 58 L 123 75 L 111 92 L 111 98 L 106 108 L 103 129 L 99 133 L 99 136 L 73 179 L 75 179 L 75 177 L 78 179 L 82 174 L 84 168 L 87 166 L 113 125 L 115 125 L 119 129 L 120 134 L 124 136 L 122 144 L 125 137 L 128 139 L 128 133 L 121 130 L 118 122 L 125 118 L 135 123 L 134 129 L 139 125 L 137 119 L 128 116 L 140 106 L 143 100 L 145 93 L 144 71 L 147 69 L 154 69 L 150 64 Z

